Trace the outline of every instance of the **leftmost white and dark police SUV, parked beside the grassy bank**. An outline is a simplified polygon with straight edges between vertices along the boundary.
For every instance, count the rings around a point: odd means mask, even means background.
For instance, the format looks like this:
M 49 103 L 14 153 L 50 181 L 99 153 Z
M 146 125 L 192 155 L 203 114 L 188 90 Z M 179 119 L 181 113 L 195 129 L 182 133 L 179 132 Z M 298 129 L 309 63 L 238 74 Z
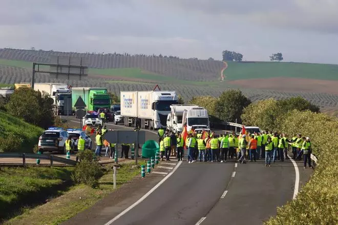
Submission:
M 41 153 L 44 151 L 56 151 L 66 154 L 66 140 L 68 137 L 69 134 L 64 128 L 50 127 L 39 137 L 38 149 Z

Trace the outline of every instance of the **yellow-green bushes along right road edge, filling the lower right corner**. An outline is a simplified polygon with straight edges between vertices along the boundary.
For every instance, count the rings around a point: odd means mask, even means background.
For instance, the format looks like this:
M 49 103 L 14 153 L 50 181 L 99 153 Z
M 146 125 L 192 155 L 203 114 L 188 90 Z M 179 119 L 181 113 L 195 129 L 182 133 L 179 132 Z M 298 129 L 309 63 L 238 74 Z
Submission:
M 338 119 L 294 110 L 285 115 L 281 131 L 311 137 L 319 162 L 297 198 L 277 209 L 265 224 L 338 224 Z

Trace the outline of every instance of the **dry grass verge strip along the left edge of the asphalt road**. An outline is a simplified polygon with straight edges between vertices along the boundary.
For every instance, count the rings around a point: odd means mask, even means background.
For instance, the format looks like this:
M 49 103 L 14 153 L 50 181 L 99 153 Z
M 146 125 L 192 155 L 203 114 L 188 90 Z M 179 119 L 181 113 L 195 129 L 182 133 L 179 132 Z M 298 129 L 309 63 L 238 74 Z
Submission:
M 134 161 L 121 163 L 117 170 L 117 188 L 140 174 L 140 168 L 132 168 Z M 140 160 L 139 165 L 145 165 Z M 98 189 L 85 185 L 76 185 L 64 192 L 61 196 L 51 199 L 46 204 L 27 210 L 5 222 L 4 225 L 51 225 L 66 221 L 77 213 L 92 207 L 97 201 L 114 191 L 112 166 L 105 166 L 104 175 L 100 178 Z M 43 213 L 41 213 L 43 212 Z

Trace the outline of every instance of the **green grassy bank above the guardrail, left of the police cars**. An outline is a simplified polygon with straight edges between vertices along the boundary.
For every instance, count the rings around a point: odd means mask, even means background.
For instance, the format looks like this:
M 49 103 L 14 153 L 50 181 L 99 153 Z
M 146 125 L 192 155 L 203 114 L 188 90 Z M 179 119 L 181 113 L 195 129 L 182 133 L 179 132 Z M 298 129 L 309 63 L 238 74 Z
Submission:
M 6 138 L 9 134 L 14 134 L 17 138 L 22 138 L 23 141 L 19 149 L 12 151 L 31 153 L 43 131 L 42 128 L 28 124 L 24 120 L 0 110 L 0 152 L 2 152 L 2 145 L 6 145 Z

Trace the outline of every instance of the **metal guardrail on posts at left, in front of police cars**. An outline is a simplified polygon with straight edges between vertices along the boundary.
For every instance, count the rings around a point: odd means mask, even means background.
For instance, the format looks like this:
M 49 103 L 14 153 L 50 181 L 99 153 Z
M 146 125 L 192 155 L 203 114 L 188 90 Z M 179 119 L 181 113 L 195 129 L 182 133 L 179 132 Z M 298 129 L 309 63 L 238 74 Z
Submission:
M 50 160 L 50 165 L 53 166 L 53 162 L 61 162 L 65 163 L 67 165 L 75 166 L 77 161 L 62 158 L 58 156 L 54 156 L 52 154 L 50 155 L 43 155 L 43 154 L 34 154 L 34 153 L 0 153 L 0 158 L 22 158 L 23 159 L 23 165 L 26 166 L 26 158 L 32 158 L 32 159 L 46 159 Z

